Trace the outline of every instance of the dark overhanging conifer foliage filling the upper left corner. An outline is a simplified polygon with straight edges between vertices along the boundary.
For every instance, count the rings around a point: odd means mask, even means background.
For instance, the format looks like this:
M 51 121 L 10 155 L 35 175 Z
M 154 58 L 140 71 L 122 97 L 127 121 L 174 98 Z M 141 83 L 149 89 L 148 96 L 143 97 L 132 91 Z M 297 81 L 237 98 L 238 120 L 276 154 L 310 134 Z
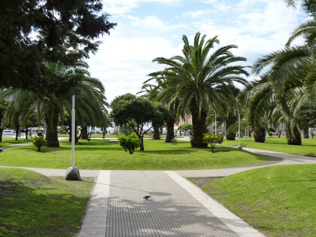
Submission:
M 46 70 L 44 61 L 73 65 L 98 50 L 100 35 L 110 34 L 116 23 L 108 21 L 101 0 L 1 1 L 0 81 L 3 87 L 37 91 L 60 87 L 67 91 L 72 82 Z M 31 34 L 38 36 L 31 38 Z M 67 48 L 80 48 L 66 55 Z M 50 86 L 49 86 L 50 85 Z M 45 89 L 44 89 L 45 90 Z M 46 94 L 49 90 L 45 90 Z

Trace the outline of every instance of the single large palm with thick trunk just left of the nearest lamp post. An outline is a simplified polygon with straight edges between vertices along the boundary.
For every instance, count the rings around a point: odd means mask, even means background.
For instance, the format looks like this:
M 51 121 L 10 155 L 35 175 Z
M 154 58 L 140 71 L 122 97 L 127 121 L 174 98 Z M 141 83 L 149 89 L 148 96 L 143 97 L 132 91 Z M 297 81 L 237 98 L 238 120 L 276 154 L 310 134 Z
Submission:
M 106 111 L 106 97 L 104 96 L 104 87 L 100 80 L 89 77 L 87 71 L 88 64 L 85 62 L 77 62 L 75 75 L 72 75 L 72 67 L 67 67 L 63 63 L 46 62 L 46 68 L 51 70 L 54 76 L 69 80 L 72 76 L 76 83 L 72 86 L 72 91 L 63 91 L 61 93 L 58 88 L 51 88 L 51 92 L 43 94 L 41 90 L 20 91 L 17 96 L 17 101 L 23 101 L 21 119 L 26 121 L 27 114 L 36 111 L 41 118 L 44 116 L 46 122 L 46 137 L 50 147 L 59 147 L 58 142 L 58 117 L 63 116 L 64 111 L 69 114 L 71 112 L 71 95 L 76 94 L 76 120 L 81 125 L 83 121 L 88 121 L 94 124 L 100 124 L 103 117 L 102 111 Z M 56 85 L 53 85 L 56 86 Z M 56 89 L 56 90 L 55 90 Z M 44 91 L 46 91 L 44 89 Z M 5 94 L 12 94 L 12 90 L 7 89 Z M 99 119 L 99 120 L 98 120 Z

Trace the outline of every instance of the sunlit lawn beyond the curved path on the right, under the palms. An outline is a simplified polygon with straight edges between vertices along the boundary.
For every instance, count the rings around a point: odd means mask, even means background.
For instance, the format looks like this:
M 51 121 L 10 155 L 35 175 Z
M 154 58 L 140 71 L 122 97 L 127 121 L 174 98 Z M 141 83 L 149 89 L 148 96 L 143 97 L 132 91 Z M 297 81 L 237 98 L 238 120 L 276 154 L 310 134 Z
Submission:
M 237 146 L 238 138 L 235 141 L 228 141 L 224 139 L 224 145 Z M 307 155 L 307 156 L 316 156 L 316 139 L 304 139 L 302 138 L 302 145 L 288 145 L 287 139 L 285 136 L 281 136 L 281 138 L 277 137 L 265 137 L 264 143 L 256 143 L 254 141 L 253 136 L 250 138 L 240 138 L 240 145 L 246 148 L 253 148 L 259 150 L 268 150 L 268 151 L 276 151 L 283 152 L 295 155 Z

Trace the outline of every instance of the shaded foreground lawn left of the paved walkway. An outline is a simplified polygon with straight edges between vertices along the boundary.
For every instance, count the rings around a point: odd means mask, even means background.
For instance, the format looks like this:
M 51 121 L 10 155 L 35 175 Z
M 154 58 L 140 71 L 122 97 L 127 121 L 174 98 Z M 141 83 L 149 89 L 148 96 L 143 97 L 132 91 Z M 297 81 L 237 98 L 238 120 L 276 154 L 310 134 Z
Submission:
M 26 169 L 0 168 L 0 236 L 75 236 L 93 179 L 65 181 Z

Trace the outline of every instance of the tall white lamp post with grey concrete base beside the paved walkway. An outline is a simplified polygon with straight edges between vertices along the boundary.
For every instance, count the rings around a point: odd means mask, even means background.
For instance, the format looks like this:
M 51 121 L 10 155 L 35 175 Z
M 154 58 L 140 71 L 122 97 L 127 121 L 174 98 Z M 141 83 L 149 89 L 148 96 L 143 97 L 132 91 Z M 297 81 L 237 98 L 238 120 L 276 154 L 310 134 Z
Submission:
M 78 53 L 76 49 L 70 49 L 67 54 Z M 75 66 L 72 67 L 72 75 L 75 75 Z M 75 94 L 72 94 L 72 110 L 71 110 L 71 167 L 66 172 L 67 180 L 80 180 L 80 172 L 75 167 Z

